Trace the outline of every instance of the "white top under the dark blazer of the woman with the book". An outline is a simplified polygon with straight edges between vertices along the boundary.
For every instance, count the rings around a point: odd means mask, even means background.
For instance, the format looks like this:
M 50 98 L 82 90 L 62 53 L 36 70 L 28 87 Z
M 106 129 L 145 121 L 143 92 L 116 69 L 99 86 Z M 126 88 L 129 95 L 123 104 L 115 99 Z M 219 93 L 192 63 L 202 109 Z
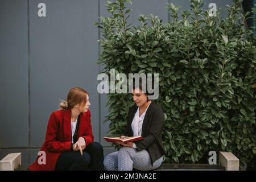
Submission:
M 151 102 L 150 102 L 150 104 L 151 104 Z M 147 109 L 150 106 L 150 104 L 148 104 Z M 133 122 L 131 122 L 131 129 L 133 130 L 133 137 L 141 136 L 143 120 L 144 120 L 144 117 L 147 112 L 147 109 L 146 109 L 144 111 L 144 113 L 142 113 L 142 115 L 139 116 L 139 108 L 140 107 L 138 107 L 137 112 L 134 115 Z M 136 148 L 135 143 L 133 145 L 133 148 Z

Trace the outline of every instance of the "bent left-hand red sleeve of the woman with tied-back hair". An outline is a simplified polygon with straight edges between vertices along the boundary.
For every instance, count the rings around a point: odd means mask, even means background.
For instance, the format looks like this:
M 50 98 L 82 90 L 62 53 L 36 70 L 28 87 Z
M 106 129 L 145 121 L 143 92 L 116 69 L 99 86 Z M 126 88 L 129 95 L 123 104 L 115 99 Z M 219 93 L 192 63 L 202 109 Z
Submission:
M 64 152 L 71 150 L 72 142 L 60 142 L 57 140 L 59 122 L 54 113 L 51 114 L 46 131 L 46 148 L 52 152 Z

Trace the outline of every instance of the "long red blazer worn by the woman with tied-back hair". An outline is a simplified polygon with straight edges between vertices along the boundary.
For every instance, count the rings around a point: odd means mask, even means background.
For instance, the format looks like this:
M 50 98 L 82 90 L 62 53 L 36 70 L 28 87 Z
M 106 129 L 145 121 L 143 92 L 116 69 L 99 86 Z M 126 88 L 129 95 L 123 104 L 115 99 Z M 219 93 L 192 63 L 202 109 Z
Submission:
M 79 137 L 85 139 L 86 145 L 93 142 L 90 110 L 80 114 L 77 138 Z M 71 144 L 71 109 L 54 111 L 48 121 L 46 140 L 40 149 L 40 151 L 46 152 L 46 164 L 39 164 L 40 156 L 38 156 L 28 169 L 32 171 L 55 170 L 60 154 L 64 151 L 71 151 Z M 43 155 L 41 154 L 41 156 Z

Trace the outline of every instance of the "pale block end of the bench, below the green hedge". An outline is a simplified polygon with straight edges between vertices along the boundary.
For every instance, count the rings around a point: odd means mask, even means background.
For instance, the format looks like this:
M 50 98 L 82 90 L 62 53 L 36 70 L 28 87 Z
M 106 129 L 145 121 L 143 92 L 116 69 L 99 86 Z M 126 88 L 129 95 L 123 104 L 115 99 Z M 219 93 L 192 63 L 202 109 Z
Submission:
M 220 152 L 218 163 L 224 166 L 226 171 L 239 171 L 239 159 L 231 152 Z

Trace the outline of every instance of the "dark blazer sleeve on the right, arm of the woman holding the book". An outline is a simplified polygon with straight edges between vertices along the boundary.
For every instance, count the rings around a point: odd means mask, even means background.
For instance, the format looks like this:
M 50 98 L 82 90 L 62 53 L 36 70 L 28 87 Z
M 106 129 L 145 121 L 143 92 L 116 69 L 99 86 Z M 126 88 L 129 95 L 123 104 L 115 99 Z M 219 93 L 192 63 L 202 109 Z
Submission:
M 163 128 L 163 124 L 164 124 L 163 110 L 158 108 L 153 113 L 150 131 L 149 131 L 148 135 L 146 137 L 144 137 L 143 140 L 135 142 L 138 151 L 146 149 L 152 143 L 155 143 L 155 141 L 158 139 L 158 137 L 161 137 L 161 131 Z

